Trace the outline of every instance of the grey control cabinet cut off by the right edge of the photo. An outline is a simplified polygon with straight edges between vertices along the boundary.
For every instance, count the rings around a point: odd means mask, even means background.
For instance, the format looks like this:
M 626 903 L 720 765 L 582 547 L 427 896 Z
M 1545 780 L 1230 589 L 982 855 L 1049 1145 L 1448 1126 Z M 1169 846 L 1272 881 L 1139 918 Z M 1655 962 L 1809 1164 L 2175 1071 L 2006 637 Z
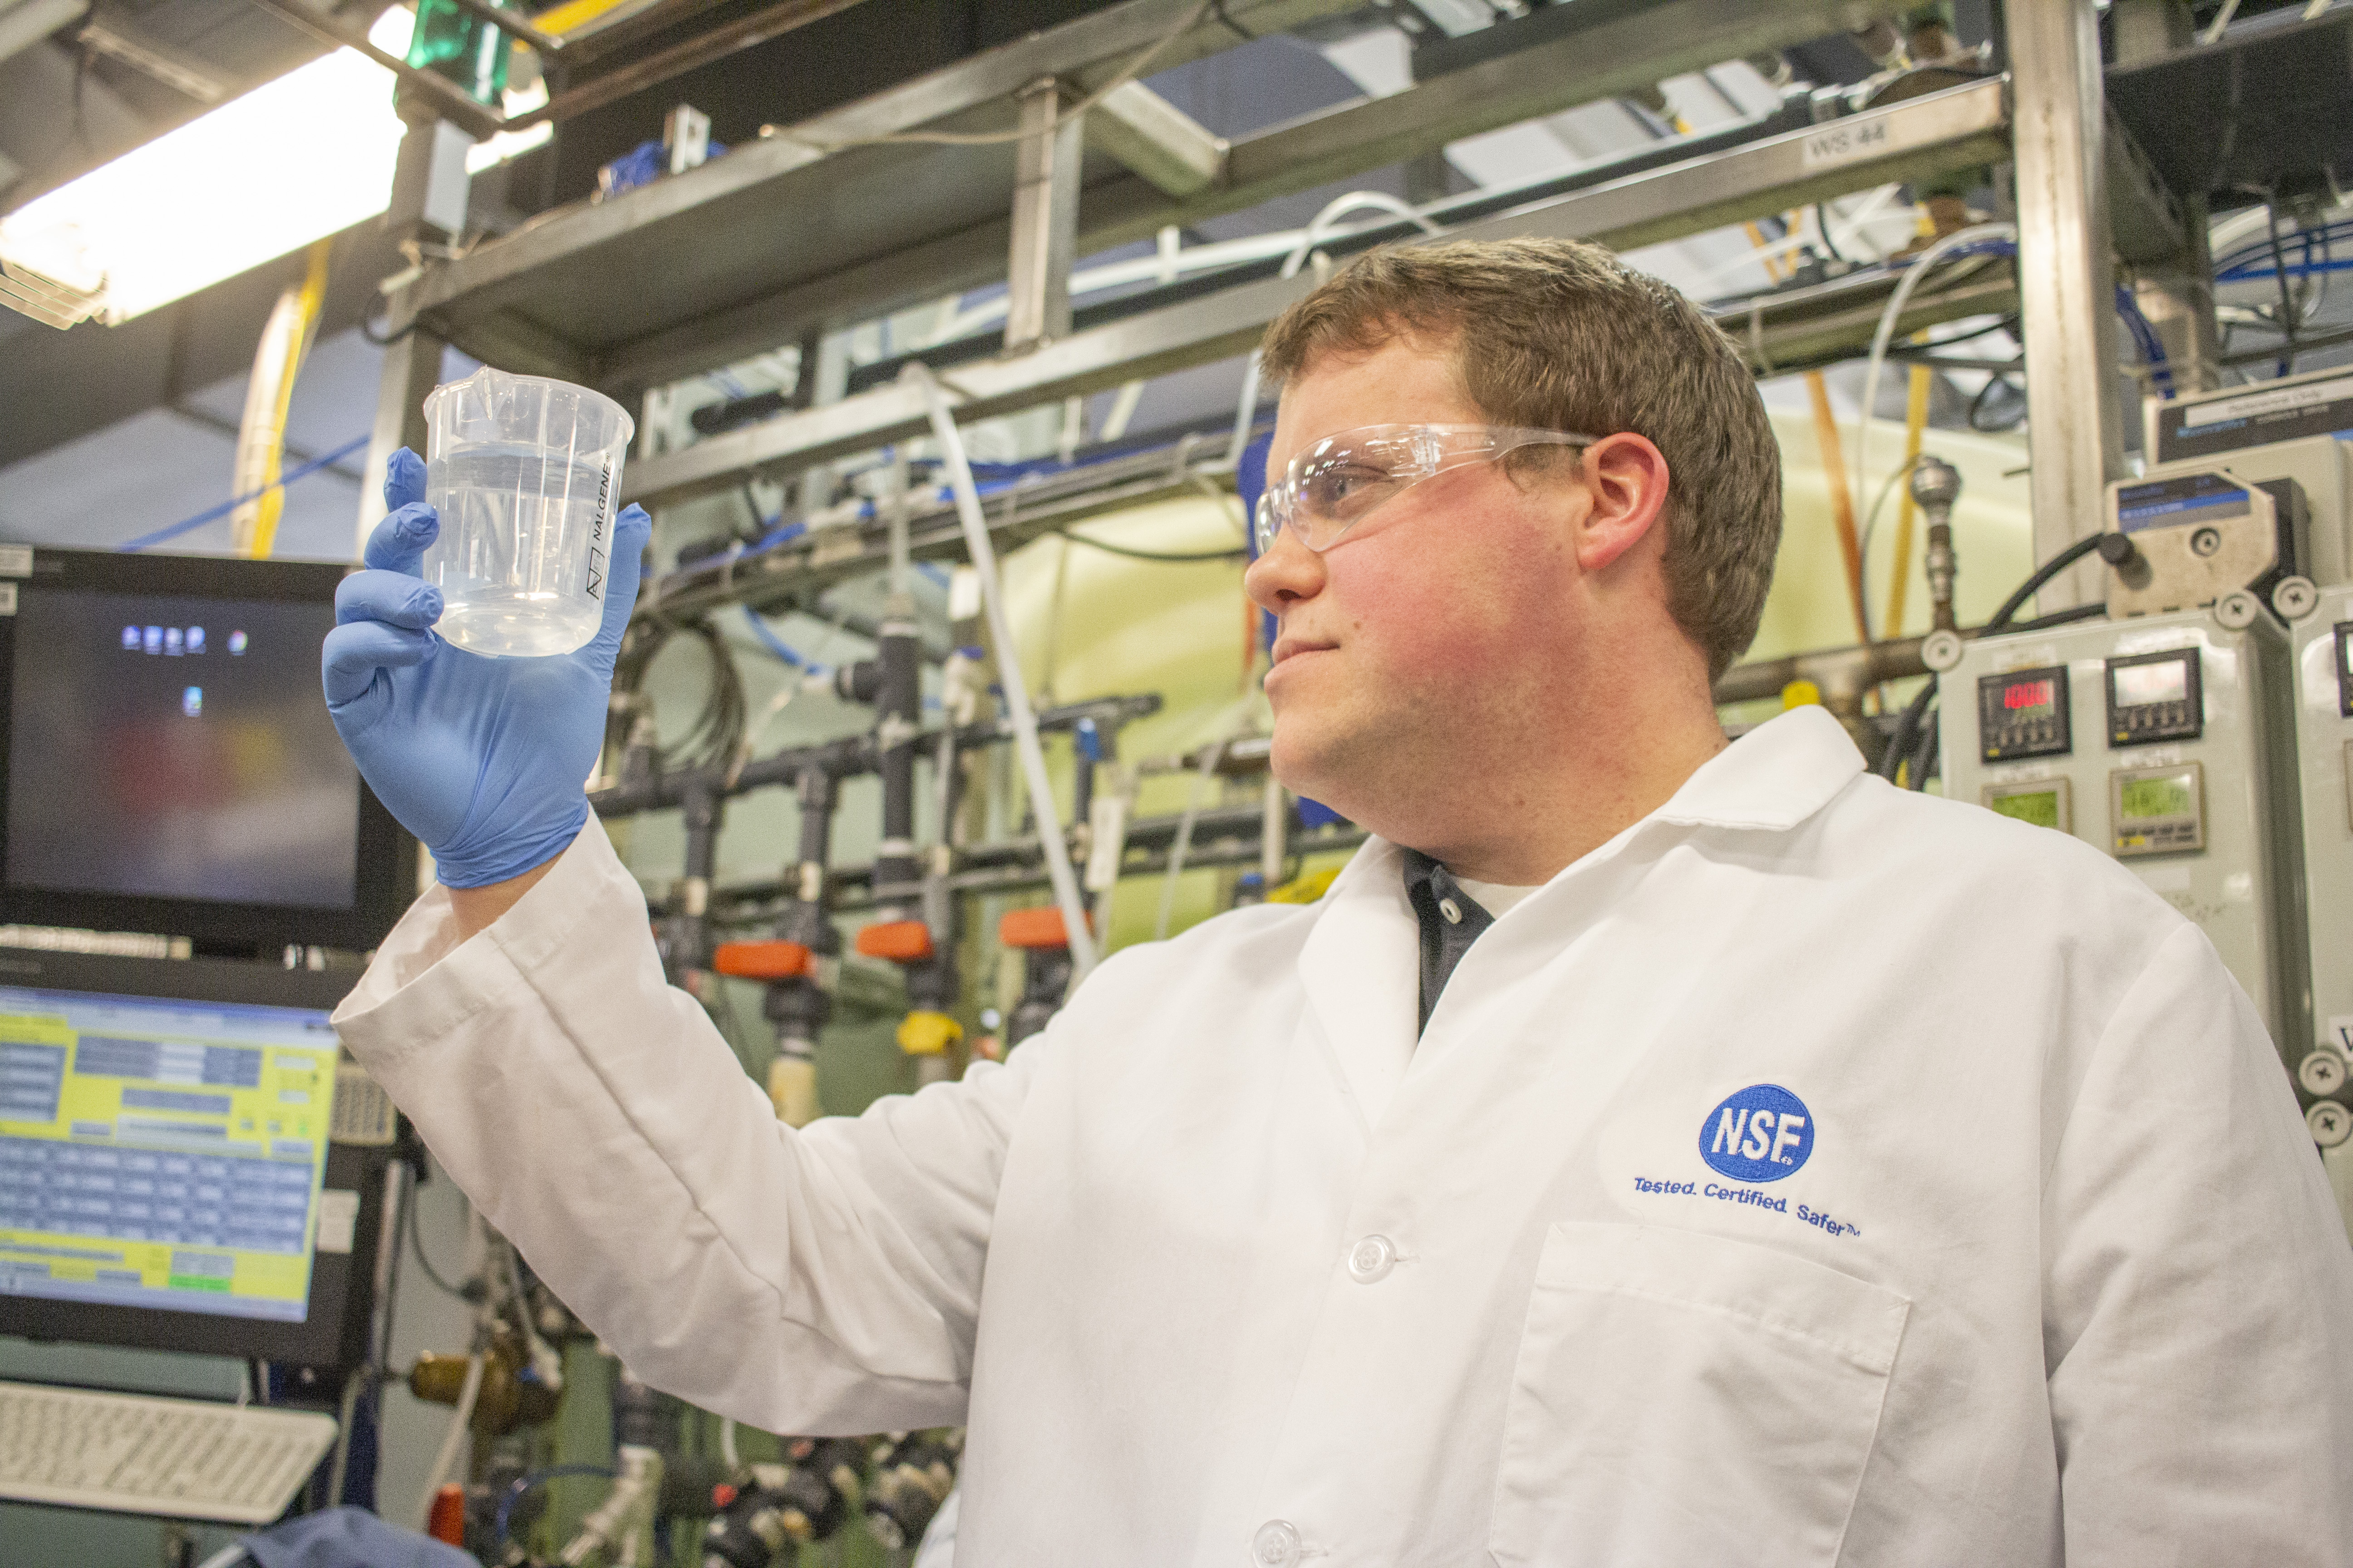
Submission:
M 2337 1206 L 2353 1215 L 2353 588 L 2322 588 L 2289 642 L 2313 971 L 2311 1053 L 2297 1063 L 2297 1086 Z

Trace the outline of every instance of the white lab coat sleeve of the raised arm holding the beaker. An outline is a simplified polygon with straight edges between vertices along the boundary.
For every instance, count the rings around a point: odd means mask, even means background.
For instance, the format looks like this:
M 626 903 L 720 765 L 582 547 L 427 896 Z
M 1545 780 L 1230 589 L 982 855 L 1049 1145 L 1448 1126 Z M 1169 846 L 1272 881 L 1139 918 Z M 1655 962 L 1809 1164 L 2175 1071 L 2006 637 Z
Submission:
M 471 940 L 426 893 L 336 1027 L 654 1387 L 767 1432 L 962 1420 L 998 1173 L 1047 1041 L 795 1133 L 664 983 L 593 823 Z

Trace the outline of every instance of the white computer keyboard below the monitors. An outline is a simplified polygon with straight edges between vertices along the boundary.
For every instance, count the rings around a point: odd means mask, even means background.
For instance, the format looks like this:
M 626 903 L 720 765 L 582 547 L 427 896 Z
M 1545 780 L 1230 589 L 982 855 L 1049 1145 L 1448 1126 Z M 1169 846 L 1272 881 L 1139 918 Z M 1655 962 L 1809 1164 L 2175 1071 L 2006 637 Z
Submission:
M 0 1382 L 0 1497 L 271 1523 L 334 1446 L 334 1418 Z

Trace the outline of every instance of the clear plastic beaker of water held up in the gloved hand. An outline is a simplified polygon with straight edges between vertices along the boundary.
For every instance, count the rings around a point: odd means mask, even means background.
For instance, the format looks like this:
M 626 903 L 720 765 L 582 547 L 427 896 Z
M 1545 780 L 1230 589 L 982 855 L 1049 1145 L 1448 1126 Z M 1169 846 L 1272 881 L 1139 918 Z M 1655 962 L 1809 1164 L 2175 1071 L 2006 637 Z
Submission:
M 426 395 L 424 578 L 435 623 L 492 658 L 569 654 L 605 618 L 621 458 L 635 421 L 602 393 L 482 367 Z

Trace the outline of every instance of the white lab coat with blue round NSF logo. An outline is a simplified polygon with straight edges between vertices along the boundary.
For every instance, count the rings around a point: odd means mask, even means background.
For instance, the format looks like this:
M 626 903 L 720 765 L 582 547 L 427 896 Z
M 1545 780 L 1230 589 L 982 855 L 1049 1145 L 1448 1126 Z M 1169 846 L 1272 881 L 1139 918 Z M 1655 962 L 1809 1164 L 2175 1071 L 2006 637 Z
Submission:
M 962 1568 L 2353 1563 L 2353 1255 L 2097 851 L 1798 710 L 1414 987 L 1372 842 L 793 1133 L 584 832 L 336 1023 L 638 1375 L 969 1422 Z

